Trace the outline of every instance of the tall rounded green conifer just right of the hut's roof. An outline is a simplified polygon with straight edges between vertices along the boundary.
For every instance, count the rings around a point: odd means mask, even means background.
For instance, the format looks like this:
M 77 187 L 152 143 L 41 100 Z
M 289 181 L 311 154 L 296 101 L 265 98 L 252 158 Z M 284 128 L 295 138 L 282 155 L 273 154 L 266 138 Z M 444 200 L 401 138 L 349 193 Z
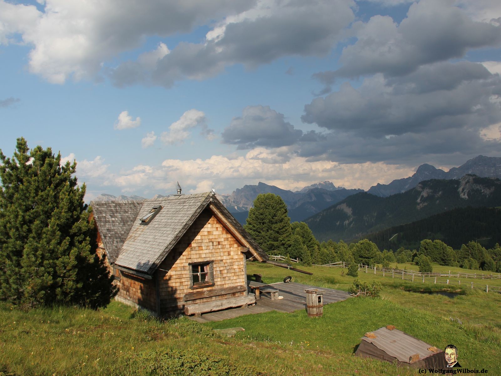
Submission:
M 280 196 L 260 194 L 250 208 L 244 229 L 269 255 L 285 255 L 292 241 L 291 219 Z M 294 252 L 290 252 L 296 257 Z

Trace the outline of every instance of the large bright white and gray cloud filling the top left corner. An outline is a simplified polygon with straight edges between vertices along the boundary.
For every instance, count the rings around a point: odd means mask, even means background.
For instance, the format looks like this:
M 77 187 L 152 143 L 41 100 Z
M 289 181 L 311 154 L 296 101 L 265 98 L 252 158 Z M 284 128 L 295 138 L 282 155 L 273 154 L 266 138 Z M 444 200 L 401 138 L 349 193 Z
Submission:
M 13 43 L 20 35 L 22 43 L 33 47 L 30 71 L 57 84 L 70 77 L 96 77 L 102 63 L 139 47 L 148 36 L 189 33 L 195 26 L 253 5 L 244 0 L 44 3 L 44 12 L 39 12 L 34 6 L 0 0 L 0 43 Z

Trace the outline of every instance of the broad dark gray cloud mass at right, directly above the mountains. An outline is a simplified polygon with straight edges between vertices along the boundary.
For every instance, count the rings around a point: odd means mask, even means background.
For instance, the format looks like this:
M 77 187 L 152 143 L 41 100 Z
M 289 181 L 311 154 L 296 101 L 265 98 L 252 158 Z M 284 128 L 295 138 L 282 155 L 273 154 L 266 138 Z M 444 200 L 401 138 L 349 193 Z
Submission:
M 426 76 L 426 78 L 424 78 Z M 359 89 L 344 83 L 305 106 L 302 120 L 363 137 L 468 127 L 501 121 L 501 79 L 475 63 L 436 63 L 414 74 L 385 79 L 377 74 Z

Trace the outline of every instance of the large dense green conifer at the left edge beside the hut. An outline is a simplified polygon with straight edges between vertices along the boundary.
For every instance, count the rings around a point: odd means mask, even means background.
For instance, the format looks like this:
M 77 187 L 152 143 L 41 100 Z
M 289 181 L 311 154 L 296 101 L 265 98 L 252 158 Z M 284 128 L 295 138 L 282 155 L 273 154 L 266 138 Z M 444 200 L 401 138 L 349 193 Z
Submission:
M 105 306 L 113 277 L 96 255 L 95 226 L 84 204 L 76 163 L 24 138 L 7 158 L 0 150 L 0 298 L 23 307 Z

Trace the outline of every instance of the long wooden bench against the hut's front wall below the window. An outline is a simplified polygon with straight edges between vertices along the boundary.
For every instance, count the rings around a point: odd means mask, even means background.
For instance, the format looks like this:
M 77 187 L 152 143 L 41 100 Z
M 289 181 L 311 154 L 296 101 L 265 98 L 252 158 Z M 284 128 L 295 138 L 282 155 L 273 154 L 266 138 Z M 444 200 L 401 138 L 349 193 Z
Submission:
M 189 292 L 184 295 L 184 302 L 185 302 L 184 313 L 186 315 L 194 314 L 200 316 L 202 313 L 206 312 L 218 311 L 220 309 L 233 308 L 233 307 L 246 307 L 249 304 L 256 303 L 256 296 L 254 294 L 220 298 L 217 300 L 210 300 L 207 302 L 197 301 L 203 298 L 208 298 L 212 296 L 223 296 L 245 290 L 246 290 L 245 286 L 233 286 L 220 289 Z

